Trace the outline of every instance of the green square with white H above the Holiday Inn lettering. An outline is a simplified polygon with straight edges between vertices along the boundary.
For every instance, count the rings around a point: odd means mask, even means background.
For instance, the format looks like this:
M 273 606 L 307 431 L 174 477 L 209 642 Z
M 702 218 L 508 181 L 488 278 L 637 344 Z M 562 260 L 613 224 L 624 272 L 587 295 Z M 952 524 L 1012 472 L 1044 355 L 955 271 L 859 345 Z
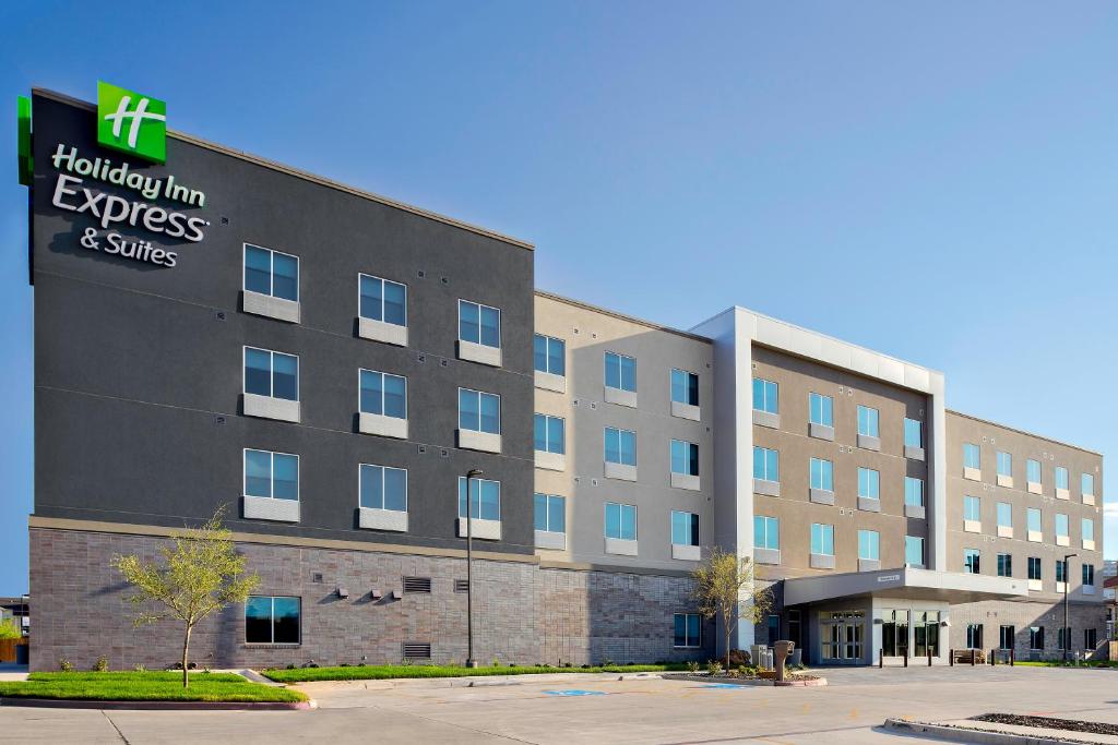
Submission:
M 97 80 L 97 142 L 144 160 L 167 161 L 167 103 Z

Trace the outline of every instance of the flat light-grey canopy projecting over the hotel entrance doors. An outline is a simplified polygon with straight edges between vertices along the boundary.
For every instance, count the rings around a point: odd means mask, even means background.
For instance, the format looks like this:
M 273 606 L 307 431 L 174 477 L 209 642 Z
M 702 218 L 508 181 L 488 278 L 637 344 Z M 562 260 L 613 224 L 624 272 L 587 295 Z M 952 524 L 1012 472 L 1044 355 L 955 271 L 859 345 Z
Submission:
M 979 600 L 1024 600 L 1024 580 L 957 572 L 932 572 L 910 566 L 877 572 L 847 572 L 784 581 L 784 604 L 800 605 L 842 598 L 885 596 L 973 603 Z

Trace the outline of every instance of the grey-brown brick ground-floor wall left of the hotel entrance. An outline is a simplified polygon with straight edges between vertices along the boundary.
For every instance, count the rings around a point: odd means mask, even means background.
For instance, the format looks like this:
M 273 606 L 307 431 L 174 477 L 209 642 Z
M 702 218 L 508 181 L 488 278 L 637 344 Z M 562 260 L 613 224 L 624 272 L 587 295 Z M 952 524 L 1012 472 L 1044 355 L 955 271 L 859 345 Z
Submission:
M 161 538 L 36 528 L 30 532 L 31 669 L 67 658 L 89 669 L 100 655 L 113 669 L 161 668 L 181 655 L 171 621 L 133 628 L 127 586 L 110 562 L 138 553 L 155 558 Z M 430 642 L 436 661 L 466 658 L 465 560 L 240 544 L 257 594 L 302 598 L 302 643 L 244 643 L 241 605 L 202 621 L 191 660 L 210 667 L 399 662 L 405 642 Z M 316 576 L 321 574 L 321 581 Z M 404 576 L 432 579 L 430 594 L 405 594 Z M 341 599 L 339 586 L 350 596 Z M 372 600 L 371 590 L 385 598 Z M 709 657 L 672 648 L 672 613 L 692 608 L 690 580 L 608 572 L 542 570 L 534 564 L 474 563 L 474 650 L 484 665 L 651 662 Z M 712 644 L 713 629 L 704 629 Z

